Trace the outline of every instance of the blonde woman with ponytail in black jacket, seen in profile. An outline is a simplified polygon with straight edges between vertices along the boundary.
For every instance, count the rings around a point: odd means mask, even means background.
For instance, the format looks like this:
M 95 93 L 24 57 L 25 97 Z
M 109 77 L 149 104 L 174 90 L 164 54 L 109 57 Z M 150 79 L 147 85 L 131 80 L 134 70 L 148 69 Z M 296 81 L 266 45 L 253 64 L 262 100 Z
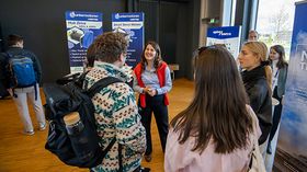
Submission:
M 272 127 L 272 69 L 268 48 L 262 42 L 247 42 L 239 54 L 240 67 L 250 106 L 254 111 L 262 131 L 259 138 L 260 151 L 265 153 L 268 137 Z

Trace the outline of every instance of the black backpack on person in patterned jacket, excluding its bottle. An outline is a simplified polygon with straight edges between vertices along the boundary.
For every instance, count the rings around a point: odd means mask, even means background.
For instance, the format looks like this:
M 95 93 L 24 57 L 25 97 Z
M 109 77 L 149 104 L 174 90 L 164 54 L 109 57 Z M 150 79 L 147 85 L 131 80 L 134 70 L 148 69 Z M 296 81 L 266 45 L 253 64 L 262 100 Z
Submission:
M 84 78 L 86 73 L 80 78 Z M 102 150 L 94 118 L 94 106 L 91 98 L 106 85 L 122 82 L 117 78 L 107 77 L 94 83 L 89 90 L 80 88 L 80 81 L 71 81 L 65 85 L 50 83 L 43 87 L 46 104 L 46 118 L 49 131 L 45 148 L 56 154 L 68 165 L 93 168 L 101 164 L 103 158 L 114 145 L 116 138 Z M 78 112 L 84 129 L 76 136 L 68 135 L 62 117 Z

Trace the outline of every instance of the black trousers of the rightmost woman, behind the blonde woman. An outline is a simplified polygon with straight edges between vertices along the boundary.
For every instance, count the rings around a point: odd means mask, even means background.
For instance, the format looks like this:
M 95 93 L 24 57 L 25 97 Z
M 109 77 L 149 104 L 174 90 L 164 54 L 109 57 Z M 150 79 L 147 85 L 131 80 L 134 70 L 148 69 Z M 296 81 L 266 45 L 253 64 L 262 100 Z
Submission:
M 273 98 L 278 100 L 280 104 L 274 107 L 273 126 L 271 128 L 271 133 L 270 133 L 270 137 L 269 137 L 269 144 L 272 141 L 272 139 L 273 139 L 273 137 L 274 137 L 274 135 L 275 135 L 275 133 L 278 128 L 278 124 L 281 122 L 281 116 L 282 116 L 282 110 L 283 110 L 282 98 L 278 98 L 278 95 L 277 95 L 277 87 L 275 87 L 275 89 L 273 91 Z

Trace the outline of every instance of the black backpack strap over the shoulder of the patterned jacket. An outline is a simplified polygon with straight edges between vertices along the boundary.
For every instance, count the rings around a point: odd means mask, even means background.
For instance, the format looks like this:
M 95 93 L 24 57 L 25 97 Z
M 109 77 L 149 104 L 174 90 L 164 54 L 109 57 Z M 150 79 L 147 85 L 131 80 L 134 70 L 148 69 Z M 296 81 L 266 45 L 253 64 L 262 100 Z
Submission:
M 88 95 L 92 98 L 95 93 L 98 93 L 102 88 L 107 87 L 109 84 L 115 83 L 115 82 L 123 82 L 118 78 L 115 77 L 106 77 L 101 80 L 99 80 L 96 83 L 94 83 L 89 90 L 87 90 Z

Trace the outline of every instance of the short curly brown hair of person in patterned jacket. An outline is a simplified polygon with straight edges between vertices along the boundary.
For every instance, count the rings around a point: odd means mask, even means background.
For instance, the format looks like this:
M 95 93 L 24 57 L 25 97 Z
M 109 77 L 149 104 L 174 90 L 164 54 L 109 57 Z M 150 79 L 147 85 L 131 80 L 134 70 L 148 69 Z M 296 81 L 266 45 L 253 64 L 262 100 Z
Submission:
M 94 41 L 95 59 L 113 64 L 122 53 L 127 53 L 127 39 L 122 33 L 106 32 Z

